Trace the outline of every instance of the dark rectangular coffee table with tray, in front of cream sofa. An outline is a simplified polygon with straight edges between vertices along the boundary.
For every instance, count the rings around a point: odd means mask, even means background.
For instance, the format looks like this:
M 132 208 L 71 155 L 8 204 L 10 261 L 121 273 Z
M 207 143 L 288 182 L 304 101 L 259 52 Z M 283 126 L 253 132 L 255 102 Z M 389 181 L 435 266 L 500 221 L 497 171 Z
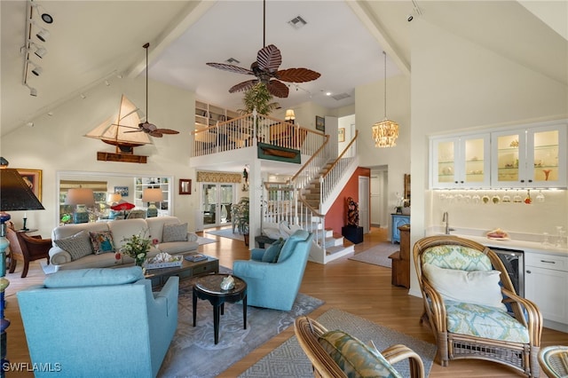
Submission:
M 195 263 L 189 262 L 184 258 L 181 266 L 146 269 L 145 277 L 148 280 L 152 280 L 152 287 L 160 287 L 164 285 L 171 276 L 177 276 L 179 280 L 183 280 L 217 272 L 219 272 L 219 260 L 215 257 L 207 256 L 207 260 Z

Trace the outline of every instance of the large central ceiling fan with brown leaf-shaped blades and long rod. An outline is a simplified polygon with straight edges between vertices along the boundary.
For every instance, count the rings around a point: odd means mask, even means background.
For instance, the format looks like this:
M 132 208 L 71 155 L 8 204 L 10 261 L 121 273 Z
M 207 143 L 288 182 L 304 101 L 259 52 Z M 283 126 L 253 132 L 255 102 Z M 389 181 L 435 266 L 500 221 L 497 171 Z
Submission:
M 256 85 L 256 83 L 264 83 L 272 96 L 279 98 L 288 97 L 288 85 L 282 82 L 289 83 L 306 83 L 312 82 L 319 78 L 318 72 L 312 71 L 308 68 L 288 68 L 279 70 L 282 63 L 282 55 L 280 50 L 273 44 L 266 46 L 266 0 L 263 2 L 263 45 L 264 47 L 256 54 L 256 61 L 250 65 L 250 69 L 233 66 L 226 63 L 207 63 L 209 67 L 231 71 L 237 74 L 254 75 L 256 79 L 248 80 L 246 82 L 233 85 L 229 93 L 238 91 L 248 91 Z

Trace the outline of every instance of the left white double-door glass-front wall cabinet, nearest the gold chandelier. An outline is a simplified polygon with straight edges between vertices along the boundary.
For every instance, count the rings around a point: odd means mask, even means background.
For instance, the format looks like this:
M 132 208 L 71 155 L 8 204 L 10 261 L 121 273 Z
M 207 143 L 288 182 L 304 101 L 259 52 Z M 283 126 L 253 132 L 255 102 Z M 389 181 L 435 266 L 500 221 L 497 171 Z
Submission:
M 490 134 L 430 140 L 430 187 L 481 188 L 490 185 Z

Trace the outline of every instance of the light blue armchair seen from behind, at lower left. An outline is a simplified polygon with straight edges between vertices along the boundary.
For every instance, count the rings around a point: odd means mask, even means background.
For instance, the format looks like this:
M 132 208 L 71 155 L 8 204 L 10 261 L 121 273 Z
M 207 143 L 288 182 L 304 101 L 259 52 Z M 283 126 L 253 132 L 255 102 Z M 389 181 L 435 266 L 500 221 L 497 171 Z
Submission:
M 36 377 L 155 377 L 177 327 L 178 277 L 138 266 L 56 272 L 18 293 Z

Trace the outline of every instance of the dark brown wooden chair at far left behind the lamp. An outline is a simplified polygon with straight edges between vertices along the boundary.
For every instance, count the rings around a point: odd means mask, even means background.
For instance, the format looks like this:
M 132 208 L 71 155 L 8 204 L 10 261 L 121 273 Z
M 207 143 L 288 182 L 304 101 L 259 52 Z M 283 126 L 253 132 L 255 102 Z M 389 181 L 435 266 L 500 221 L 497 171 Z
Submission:
M 10 241 L 10 267 L 8 272 L 16 270 L 18 261 L 24 264 L 21 278 L 28 276 L 29 263 L 44 258 L 50 264 L 49 251 L 51 239 L 42 239 L 40 235 L 28 236 L 25 232 L 16 232 L 13 225 L 6 227 L 6 239 Z

